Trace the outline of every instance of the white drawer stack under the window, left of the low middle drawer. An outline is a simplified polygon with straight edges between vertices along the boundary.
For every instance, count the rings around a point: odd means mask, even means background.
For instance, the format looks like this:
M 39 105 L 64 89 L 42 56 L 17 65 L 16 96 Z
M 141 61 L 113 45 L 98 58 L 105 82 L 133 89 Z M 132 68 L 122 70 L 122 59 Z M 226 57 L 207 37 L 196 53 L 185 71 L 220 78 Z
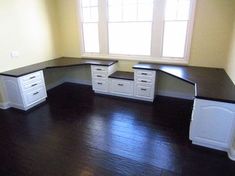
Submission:
M 111 66 L 91 66 L 92 89 L 96 93 L 108 93 L 108 76 L 117 70 L 117 64 Z

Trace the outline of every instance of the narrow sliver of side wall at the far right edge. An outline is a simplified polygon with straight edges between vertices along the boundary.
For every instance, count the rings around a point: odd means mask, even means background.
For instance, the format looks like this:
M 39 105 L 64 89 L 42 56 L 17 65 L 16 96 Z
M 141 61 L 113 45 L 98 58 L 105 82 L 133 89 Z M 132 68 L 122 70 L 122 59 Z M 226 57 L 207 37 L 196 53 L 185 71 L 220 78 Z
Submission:
M 233 35 L 231 37 L 230 51 L 225 69 L 230 78 L 232 79 L 233 83 L 235 84 L 235 15 L 233 22 Z

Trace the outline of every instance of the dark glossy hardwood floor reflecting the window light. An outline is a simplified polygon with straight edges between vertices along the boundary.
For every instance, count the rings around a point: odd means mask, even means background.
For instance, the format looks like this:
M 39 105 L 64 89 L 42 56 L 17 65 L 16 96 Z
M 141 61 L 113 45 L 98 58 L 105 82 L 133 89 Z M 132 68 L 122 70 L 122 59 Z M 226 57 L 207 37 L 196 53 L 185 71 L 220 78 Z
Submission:
M 0 175 L 235 175 L 226 153 L 189 141 L 192 103 L 151 104 L 63 84 L 33 110 L 0 110 Z

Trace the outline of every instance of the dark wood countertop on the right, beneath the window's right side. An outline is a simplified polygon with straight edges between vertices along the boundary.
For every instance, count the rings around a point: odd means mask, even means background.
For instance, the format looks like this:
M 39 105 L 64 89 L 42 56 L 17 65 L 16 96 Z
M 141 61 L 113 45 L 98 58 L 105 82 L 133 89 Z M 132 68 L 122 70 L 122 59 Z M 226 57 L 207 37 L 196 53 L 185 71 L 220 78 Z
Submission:
M 159 70 L 195 84 L 196 98 L 235 103 L 235 85 L 224 69 L 151 63 L 139 63 L 133 68 Z

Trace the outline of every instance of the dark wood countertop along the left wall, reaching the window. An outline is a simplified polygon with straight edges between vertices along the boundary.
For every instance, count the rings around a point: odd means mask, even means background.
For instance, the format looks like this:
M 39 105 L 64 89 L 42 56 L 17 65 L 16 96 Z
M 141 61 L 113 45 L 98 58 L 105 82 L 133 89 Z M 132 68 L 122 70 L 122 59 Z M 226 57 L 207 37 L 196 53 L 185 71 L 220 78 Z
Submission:
M 61 58 L 17 68 L 14 70 L 2 72 L 0 73 L 0 75 L 20 77 L 20 76 L 24 76 L 35 71 L 44 70 L 48 68 L 71 67 L 71 66 L 79 66 L 79 65 L 110 66 L 116 62 L 117 60 L 102 60 L 102 59 L 96 60 L 96 59 L 61 57 Z

